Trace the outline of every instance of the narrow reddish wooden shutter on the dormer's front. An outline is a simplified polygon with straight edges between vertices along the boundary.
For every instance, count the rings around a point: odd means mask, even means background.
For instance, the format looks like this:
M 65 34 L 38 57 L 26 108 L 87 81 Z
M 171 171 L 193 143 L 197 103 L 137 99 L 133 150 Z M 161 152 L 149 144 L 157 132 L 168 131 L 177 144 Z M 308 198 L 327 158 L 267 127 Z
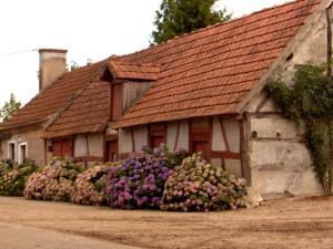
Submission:
M 123 114 L 123 84 L 112 84 L 111 87 L 111 117 L 118 121 Z

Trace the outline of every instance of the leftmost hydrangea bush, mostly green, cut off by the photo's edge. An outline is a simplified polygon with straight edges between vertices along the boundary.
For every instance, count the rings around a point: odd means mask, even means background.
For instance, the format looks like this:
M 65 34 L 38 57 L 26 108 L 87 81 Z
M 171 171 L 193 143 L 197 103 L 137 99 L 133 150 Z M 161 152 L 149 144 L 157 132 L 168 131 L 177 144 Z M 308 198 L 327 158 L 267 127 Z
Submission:
M 0 195 L 22 196 L 28 177 L 36 170 L 33 160 L 26 159 L 20 165 L 0 162 Z

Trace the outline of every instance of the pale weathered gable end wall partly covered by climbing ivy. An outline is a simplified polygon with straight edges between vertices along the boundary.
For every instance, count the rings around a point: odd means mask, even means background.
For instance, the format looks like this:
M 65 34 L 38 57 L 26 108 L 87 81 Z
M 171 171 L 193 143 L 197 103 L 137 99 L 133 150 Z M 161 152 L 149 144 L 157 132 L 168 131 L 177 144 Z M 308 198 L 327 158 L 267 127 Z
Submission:
M 309 32 L 309 30 L 306 31 Z M 300 64 L 322 63 L 326 56 L 326 21 L 324 12 L 312 23 L 305 40 L 272 74 L 293 85 Z M 304 127 L 286 120 L 264 91 L 246 106 L 248 164 L 254 189 L 261 194 L 320 195 L 323 189 L 315 176 L 305 144 Z

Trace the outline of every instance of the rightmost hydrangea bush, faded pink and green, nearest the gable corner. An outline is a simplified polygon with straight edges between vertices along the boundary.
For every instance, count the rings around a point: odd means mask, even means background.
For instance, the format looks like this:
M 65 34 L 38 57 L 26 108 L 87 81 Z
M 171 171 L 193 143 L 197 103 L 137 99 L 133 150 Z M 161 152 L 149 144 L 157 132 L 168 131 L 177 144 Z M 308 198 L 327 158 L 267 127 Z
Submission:
M 161 209 L 220 211 L 245 207 L 246 184 L 193 154 L 175 167 L 165 183 Z

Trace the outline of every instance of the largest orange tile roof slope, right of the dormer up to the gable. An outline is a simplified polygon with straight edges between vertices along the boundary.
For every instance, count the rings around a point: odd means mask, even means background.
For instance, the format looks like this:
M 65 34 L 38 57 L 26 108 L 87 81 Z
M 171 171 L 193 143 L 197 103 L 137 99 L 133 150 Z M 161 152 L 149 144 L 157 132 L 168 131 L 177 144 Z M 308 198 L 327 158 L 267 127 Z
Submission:
M 113 127 L 235 113 L 320 2 L 289 2 L 122 56 L 161 73 Z

